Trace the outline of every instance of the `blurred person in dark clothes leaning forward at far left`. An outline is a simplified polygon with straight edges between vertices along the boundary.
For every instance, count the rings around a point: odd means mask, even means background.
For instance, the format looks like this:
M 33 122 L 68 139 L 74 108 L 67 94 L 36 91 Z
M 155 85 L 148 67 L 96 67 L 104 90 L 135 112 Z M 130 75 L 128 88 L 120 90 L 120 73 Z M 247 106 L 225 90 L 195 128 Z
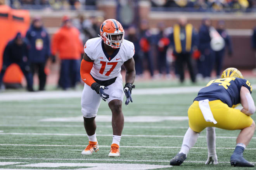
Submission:
M 16 37 L 8 42 L 3 52 L 3 66 L 0 73 L 0 87 L 3 81 L 3 75 L 9 65 L 16 63 L 20 66 L 27 80 L 27 90 L 33 92 L 33 76 L 29 61 L 29 43 L 26 38 L 22 38 L 18 32 Z

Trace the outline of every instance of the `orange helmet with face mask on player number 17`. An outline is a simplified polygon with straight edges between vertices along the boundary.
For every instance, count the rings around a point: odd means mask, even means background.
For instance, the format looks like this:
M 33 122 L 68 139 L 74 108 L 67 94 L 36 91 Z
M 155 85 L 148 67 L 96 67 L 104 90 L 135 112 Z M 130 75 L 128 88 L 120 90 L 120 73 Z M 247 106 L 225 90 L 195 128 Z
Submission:
M 113 40 L 112 36 L 121 35 L 120 40 Z M 115 19 L 107 19 L 100 26 L 100 37 L 105 44 L 112 48 L 120 48 L 123 44 L 125 31 L 123 26 Z

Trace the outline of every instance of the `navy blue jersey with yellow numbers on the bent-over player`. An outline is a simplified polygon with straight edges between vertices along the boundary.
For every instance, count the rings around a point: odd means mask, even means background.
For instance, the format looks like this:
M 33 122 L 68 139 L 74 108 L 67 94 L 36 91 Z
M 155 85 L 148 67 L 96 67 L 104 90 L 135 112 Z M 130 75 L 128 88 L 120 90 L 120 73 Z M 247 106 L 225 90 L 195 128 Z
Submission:
M 221 100 L 229 107 L 232 107 L 233 105 L 240 104 L 240 89 L 242 86 L 252 93 L 251 83 L 242 78 L 228 77 L 211 80 L 206 87 L 198 92 L 195 100 Z

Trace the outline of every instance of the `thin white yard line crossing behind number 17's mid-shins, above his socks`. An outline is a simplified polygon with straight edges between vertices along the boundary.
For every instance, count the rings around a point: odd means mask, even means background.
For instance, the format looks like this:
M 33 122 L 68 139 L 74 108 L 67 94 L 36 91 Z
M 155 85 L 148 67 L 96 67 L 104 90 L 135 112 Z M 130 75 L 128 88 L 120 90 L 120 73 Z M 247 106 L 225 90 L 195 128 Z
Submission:
M 0 124 L 0 127 L 59 127 L 59 128 L 81 128 L 83 125 L 52 125 L 52 124 Z M 112 128 L 111 125 L 97 125 L 97 128 Z M 154 129 L 187 129 L 189 127 L 184 126 L 125 126 L 125 128 L 154 128 Z M 1 132 L 1 131 L 0 131 Z

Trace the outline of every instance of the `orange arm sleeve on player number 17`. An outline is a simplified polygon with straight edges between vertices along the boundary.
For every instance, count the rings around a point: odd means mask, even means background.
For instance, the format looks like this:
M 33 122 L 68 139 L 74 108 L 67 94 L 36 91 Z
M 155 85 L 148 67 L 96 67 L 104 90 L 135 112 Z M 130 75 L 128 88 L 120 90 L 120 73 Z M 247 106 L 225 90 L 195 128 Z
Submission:
M 85 61 L 85 59 L 82 59 L 81 67 L 80 67 L 80 75 L 82 80 L 89 86 L 91 86 L 92 83 L 95 83 L 95 80 L 93 80 L 92 76 L 90 75 L 92 66 L 93 66 L 93 62 Z

